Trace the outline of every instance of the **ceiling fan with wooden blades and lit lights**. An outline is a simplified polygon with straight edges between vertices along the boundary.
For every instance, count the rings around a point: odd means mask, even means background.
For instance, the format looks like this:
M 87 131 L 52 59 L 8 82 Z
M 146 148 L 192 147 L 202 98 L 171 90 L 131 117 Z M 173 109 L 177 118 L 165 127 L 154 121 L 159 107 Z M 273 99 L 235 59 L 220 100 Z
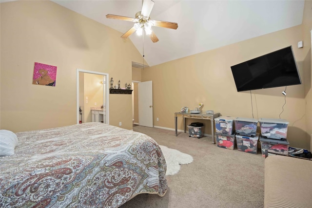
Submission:
M 124 33 L 121 38 L 128 38 L 131 34 L 136 32 L 138 35 L 142 35 L 143 30 L 145 31 L 146 35 L 149 35 L 153 42 L 157 42 L 159 39 L 156 37 L 155 33 L 152 30 L 152 26 L 156 27 L 165 27 L 170 29 L 177 28 L 176 22 L 168 22 L 168 21 L 161 21 L 161 20 L 152 20 L 150 19 L 150 14 L 154 6 L 153 0 L 142 0 L 142 11 L 137 12 L 135 18 L 123 17 L 118 15 L 106 15 L 106 18 L 109 19 L 120 19 L 126 21 L 136 22 L 130 30 Z

